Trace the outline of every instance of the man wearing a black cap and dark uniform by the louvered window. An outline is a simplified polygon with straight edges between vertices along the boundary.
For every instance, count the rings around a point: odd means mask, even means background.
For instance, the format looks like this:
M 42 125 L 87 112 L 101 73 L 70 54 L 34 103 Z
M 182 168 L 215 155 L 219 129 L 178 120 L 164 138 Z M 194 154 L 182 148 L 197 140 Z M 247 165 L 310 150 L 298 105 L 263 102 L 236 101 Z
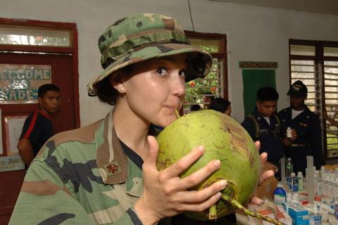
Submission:
M 278 114 L 284 134 L 284 153 L 292 158 L 294 172 L 305 174 L 306 155 L 313 155 L 313 165 L 320 169 L 323 160 L 322 135 L 320 121 L 305 105 L 308 95 L 306 85 L 300 80 L 292 84 L 287 95 L 290 96 L 291 107 L 281 110 Z M 297 137 L 294 141 L 287 138 L 287 127 L 296 130 Z

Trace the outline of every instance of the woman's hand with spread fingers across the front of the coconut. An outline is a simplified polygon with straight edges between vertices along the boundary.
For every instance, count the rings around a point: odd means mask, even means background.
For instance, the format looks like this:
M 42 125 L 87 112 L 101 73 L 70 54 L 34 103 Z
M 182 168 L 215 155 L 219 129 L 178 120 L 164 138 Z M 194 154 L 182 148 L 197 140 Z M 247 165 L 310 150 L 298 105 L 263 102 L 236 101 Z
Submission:
M 187 191 L 200 184 L 220 168 L 220 160 L 213 160 L 183 179 L 179 175 L 204 154 L 204 147 L 197 146 L 175 164 L 159 172 L 156 168 L 158 143 L 148 136 L 150 150 L 142 166 L 144 190 L 134 205 L 135 212 L 144 225 L 157 224 L 164 217 L 173 217 L 185 211 L 201 212 L 214 205 L 221 197 L 227 181 L 218 181 L 201 191 Z

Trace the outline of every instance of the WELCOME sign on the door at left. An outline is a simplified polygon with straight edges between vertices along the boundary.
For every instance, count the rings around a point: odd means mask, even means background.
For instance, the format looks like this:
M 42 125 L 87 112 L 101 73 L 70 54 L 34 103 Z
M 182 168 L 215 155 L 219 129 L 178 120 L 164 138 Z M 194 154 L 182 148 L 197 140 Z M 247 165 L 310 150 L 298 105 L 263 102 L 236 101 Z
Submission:
M 0 64 L 0 103 L 37 103 L 37 89 L 51 83 L 51 65 Z

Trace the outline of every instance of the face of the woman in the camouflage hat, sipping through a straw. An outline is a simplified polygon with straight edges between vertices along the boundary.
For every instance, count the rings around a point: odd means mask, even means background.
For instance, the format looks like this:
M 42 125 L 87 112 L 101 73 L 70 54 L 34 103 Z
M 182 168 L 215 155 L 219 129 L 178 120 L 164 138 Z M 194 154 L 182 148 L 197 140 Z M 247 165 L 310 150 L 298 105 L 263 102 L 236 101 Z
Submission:
M 123 81 L 125 102 L 146 122 L 166 127 L 176 119 L 185 94 L 186 54 L 154 58 L 132 66 Z

